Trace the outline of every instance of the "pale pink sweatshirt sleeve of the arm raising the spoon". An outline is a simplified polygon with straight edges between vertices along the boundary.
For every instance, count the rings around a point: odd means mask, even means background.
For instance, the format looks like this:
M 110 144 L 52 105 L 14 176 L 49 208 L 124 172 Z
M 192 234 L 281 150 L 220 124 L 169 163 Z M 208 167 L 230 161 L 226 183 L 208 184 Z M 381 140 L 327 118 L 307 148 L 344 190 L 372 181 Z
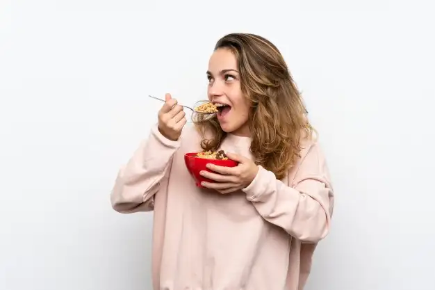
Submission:
M 169 140 L 157 126 L 151 128 L 149 138 L 142 141 L 117 174 L 110 194 L 113 209 L 123 214 L 152 211 L 154 194 L 162 179 L 169 174 L 172 157 L 179 146 L 180 140 Z

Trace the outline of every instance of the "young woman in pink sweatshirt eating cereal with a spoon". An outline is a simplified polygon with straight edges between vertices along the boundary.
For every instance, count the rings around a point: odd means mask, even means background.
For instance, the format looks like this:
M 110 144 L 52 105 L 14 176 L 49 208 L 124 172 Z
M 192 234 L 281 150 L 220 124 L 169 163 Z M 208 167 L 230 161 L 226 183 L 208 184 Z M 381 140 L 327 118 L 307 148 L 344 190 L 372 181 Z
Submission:
M 166 95 L 158 125 L 116 179 L 121 213 L 154 210 L 154 290 L 301 290 L 334 204 L 329 172 L 284 58 L 258 35 L 233 33 L 208 63 L 213 118 Z M 224 150 L 197 188 L 183 156 Z

